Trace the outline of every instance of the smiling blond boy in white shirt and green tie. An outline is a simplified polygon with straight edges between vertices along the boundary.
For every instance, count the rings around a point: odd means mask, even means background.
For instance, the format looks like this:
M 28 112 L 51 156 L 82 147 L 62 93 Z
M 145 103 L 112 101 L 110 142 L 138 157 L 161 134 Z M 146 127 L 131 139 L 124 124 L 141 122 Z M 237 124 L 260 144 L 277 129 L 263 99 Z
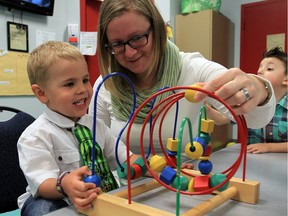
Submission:
M 32 91 L 47 110 L 18 141 L 20 166 L 28 182 L 27 192 L 18 198 L 21 215 L 44 215 L 71 202 L 77 209 L 90 208 L 101 189 L 84 183 L 83 177 L 91 171 L 83 166 L 79 142 L 73 135 L 78 125 L 93 127 L 92 117 L 86 114 L 92 86 L 85 59 L 76 47 L 51 41 L 31 53 L 27 68 Z M 104 160 L 116 169 L 116 139 L 102 121 L 97 120 L 96 131 Z M 126 146 L 122 142 L 118 154 L 124 162 Z M 130 152 L 131 163 L 136 158 Z M 101 170 L 100 174 L 112 178 L 110 172 Z

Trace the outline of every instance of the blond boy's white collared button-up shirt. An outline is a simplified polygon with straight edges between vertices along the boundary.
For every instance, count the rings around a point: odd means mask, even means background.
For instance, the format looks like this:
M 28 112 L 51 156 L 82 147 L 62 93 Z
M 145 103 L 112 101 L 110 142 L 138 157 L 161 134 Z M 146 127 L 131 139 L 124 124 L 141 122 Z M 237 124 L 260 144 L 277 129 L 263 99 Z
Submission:
M 77 124 L 92 130 L 93 118 L 85 115 Z M 17 145 L 19 163 L 28 182 L 27 192 L 18 198 L 20 209 L 31 194 L 37 197 L 38 187 L 43 181 L 81 166 L 79 143 L 71 133 L 73 127 L 74 121 L 47 109 L 20 136 Z M 115 160 L 116 138 L 111 134 L 103 121 L 96 121 L 96 141 L 114 170 L 118 166 Z M 118 157 L 121 163 L 126 161 L 126 146 L 121 141 Z

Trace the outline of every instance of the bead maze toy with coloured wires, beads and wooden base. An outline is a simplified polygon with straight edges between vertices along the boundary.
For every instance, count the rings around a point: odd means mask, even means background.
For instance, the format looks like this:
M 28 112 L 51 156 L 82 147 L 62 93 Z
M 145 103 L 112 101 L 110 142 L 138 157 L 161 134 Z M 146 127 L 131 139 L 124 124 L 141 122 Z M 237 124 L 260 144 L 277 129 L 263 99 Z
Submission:
M 123 74 L 112 73 L 111 76 L 119 75 L 125 78 L 131 88 L 133 85 L 131 81 Z M 109 77 L 105 77 L 103 82 Z M 101 86 L 101 85 L 100 85 Z M 100 88 L 99 86 L 99 88 Z M 94 114 L 96 113 L 96 100 L 99 88 L 96 91 L 95 96 L 95 107 Z M 235 122 L 238 127 L 238 142 L 241 145 L 238 158 L 235 160 L 227 170 L 220 173 L 212 173 L 213 164 L 209 160 L 212 155 L 210 138 L 211 133 L 214 129 L 214 122 L 209 120 L 206 115 L 205 106 L 201 106 L 198 134 L 193 137 L 191 122 L 189 118 L 184 118 L 182 120 L 180 129 L 178 131 L 178 138 L 175 137 L 175 131 L 172 138 L 167 140 L 166 149 L 163 147 L 161 131 L 162 122 L 165 118 L 168 110 L 176 105 L 176 114 L 178 110 L 178 101 L 186 99 L 191 103 L 195 103 L 194 95 L 197 91 L 207 94 L 210 97 L 220 103 L 222 103 L 234 117 Z M 156 97 L 161 94 L 171 93 L 169 96 L 165 97 L 159 103 L 154 104 Z M 177 93 L 176 93 L 177 92 Z M 143 127 L 141 133 L 139 134 L 140 140 L 140 151 L 141 158 L 139 158 L 134 164 L 130 164 L 129 160 L 127 163 L 119 164 L 117 169 L 117 174 L 120 178 L 127 179 L 127 190 L 120 192 L 111 193 L 101 193 L 98 195 L 97 199 L 93 202 L 93 208 L 89 210 L 82 210 L 85 215 L 129 215 L 129 216 L 144 216 L 144 215 L 204 215 L 212 211 L 217 206 L 226 202 L 229 199 L 233 199 L 240 202 L 245 202 L 249 204 L 256 204 L 259 199 L 260 183 L 257 181 L 250 181 L 245 179 L 246 173 L 246 144 L 247 144 L 247 127 L 245 118 L 243 116 L 237 116 L 232 108 L 225 103 L 221 98 L 217 97 L 214 93 L 205 91 L 201 87 L 194 86 L 176 86 L 176 87 L 166 87 L 159 90 L 157 93 L 153 94 L 147 98 L 143 104 L 141 104 L 137 109 L 135 106 L 135 90 L 134 93 L 134 105 L 127 121 L 127 158 L 129 158 L 129 137 L 130 130 L 133 122 L 139 113 L 139 111 L 147 104 L 150 103 L 151 110 L 147 114 L 146 119 L 143 122 Z M 203 118 L 204 113 L 204 118 Z M 96 116 L 94 115 L 96 118 Z M 159 144 L 161 146 L 163 155 L 157 155 L 153 148 L 153 139 L 150 138 L 150 146 L 148 153 L 145 155 L 143 136 L 145 132 L 146 125 L 150 122 L 149 133 L 150 137 L 153 137 L 153 132 L 155 129 L 155 123 L 160 119 L 159 125 Z M 188 125 L 189 130 L 189 140 L 188 144 L 185 146 L 185 153 L 188 158 L 192 161 L 198 160 L 198 170 L 181 169 L 181 146 L 182 146 L 182 136 L 185 125 Z M 125 128 L 126 128 L 125 126 Z M 95 128 L 95 127 L 94 127 Z M 123 130 L 125 129 L 123 128 Z M 123 133 L 120 132 L 117 142 Z M 176 130 L 176 127 L 175 127 Z M 94 132 L 94 131 L 93 131 Z M 96 136 L 96 132 L 93 133 Z M 117 144 L 116 144 L 117 149 Z M 147 151 L 147 149 L 146 149 Z M 152 152 L 152 156 L 150 153 Z M 117 152 L 115 152 L 117 158 Z M 92 156 L 93 157 L 93 156 Z M 179 159 L 178 159 L 179 158 Z M 243 162 L 243 176 L 242 179 L 234 178 L 234 174 L 238 170 L 241 162 Z M 151 181 L 145 182 L 143 184 L 132 187 L 131 180 L 137 179 L 143 176 L 146 172 L 149 172 L 153 177 Z M 94 175 L 92 170 L 92 176 Z M 91 178 L 91 177 L 90 177 Z M 160 210 L 158 208 L 153 208 L 141 203 L 132 202 L 132 197 L 143 194 L 147 191 L 151 191 L 158 187 L 165 187 L 167 190 L 175 192 L 176 207 L 175 214 Z M 200 205 L 192 207 L 190 210 L 180 214 L 180 195 L 207 195 L 211 194 L 211 198 L 204 201 Z M 157 195 L 155 195 L 157 196 Z M 191 196 L 193 199 L 193 196 Z

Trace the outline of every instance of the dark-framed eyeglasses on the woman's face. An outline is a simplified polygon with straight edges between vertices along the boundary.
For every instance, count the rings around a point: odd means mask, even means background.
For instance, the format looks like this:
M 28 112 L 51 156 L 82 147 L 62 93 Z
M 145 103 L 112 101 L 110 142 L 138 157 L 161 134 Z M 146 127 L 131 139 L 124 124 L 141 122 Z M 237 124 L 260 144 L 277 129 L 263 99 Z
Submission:
M 145 34 L 134 36 L 125 42 L 106 44 L 105 49 L 112 55 L 117 55 L 125 52 L 125 46 L 127 44 L 133 49 L 144 47 L 148 43 L 148 38 L 151 31 L 151 28 L 149 28 Z

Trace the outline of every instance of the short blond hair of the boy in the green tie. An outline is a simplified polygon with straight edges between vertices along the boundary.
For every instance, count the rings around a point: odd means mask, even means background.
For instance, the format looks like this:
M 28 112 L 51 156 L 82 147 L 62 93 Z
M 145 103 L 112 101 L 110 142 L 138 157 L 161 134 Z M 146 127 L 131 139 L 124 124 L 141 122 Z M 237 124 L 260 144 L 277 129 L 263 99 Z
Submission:
M 79 49 L 63 41 L 48 41 L 36 47 L 30 54 L 27 72 L 30 84 L 45 86 L 49 69 L 59 59 L 84 59 Z

